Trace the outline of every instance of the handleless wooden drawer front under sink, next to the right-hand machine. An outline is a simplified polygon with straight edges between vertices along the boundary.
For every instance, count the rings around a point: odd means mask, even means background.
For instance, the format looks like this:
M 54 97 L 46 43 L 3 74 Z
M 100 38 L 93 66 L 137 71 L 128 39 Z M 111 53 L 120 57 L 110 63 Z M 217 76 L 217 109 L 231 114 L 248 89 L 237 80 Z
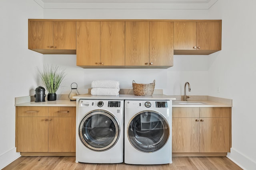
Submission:
M 172 117 L 199 117 L 200 107 L 172 107 Z

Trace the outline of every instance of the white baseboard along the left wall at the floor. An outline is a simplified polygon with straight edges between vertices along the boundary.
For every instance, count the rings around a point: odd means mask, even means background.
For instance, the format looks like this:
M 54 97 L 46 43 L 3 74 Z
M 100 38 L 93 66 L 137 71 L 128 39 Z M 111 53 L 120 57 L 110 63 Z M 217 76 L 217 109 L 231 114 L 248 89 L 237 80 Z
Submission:
M 20 152 L 16 152 L 16 148 L 13 148 L 4 154 L 0 155 L 0 169 L 6 167 L 14 160 L 20 157 Z

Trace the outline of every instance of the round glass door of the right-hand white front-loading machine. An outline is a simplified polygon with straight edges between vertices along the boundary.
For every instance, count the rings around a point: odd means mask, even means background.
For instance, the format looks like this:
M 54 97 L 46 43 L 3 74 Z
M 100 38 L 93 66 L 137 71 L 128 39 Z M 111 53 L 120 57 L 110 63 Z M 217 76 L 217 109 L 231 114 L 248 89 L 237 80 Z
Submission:
M 142 152 L 155 152 L 167 143 L 170 127 L 167 120 L 155 111 L 142 111 L 128 123 L 128 139 Z

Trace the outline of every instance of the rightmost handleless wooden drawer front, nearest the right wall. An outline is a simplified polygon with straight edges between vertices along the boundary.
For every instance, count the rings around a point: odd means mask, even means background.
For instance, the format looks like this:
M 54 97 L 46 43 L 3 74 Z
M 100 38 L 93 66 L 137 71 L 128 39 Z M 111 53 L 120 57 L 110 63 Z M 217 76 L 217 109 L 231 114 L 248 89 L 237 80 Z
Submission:
M 200 107 L 200 117 L 230 117 L 231 107 Z

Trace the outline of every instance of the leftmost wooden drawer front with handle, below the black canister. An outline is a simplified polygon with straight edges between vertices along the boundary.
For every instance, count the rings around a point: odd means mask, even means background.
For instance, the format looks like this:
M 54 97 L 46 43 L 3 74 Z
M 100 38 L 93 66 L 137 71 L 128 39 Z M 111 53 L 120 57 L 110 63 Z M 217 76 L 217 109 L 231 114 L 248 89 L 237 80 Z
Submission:
M 18 117 L 47 117 L 48 107 L 18 106 Z

